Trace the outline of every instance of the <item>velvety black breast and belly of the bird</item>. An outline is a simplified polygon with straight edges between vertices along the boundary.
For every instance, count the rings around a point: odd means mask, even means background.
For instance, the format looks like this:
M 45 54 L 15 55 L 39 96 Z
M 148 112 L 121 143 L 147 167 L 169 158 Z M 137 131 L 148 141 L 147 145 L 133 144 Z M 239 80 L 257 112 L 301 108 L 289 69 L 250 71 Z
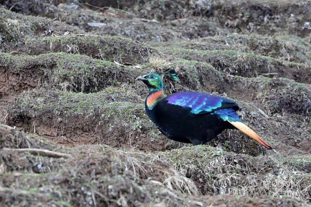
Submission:
M 179 142 L 204 144 L 230 125 L 210 113 L 196 115 L 191 113 L 191 108 L 168 104 L 161 100 L 146 113 L 151 121 L 168 138 Z

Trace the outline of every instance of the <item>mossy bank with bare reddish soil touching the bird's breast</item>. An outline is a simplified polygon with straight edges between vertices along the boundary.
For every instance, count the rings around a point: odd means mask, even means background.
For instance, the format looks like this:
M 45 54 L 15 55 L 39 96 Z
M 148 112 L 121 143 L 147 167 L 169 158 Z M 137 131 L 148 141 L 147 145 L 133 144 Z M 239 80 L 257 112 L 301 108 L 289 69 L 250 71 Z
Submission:
M 23 92 L 9 109 L 9 124 L 49 135 L 67 146 L 99 143 L 146 152 L 183 146 L 158 138 L 142 111 L 142 99 L 137 100 L 131 91 L 112 89 L 91 94 L 45 89 Z

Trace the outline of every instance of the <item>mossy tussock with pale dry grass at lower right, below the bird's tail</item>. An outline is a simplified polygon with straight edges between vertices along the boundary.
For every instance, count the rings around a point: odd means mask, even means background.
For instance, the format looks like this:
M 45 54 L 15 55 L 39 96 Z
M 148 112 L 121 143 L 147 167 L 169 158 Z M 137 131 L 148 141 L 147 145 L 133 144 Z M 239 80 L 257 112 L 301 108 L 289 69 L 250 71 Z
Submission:
M 171 164 L 171 168 L 183 175 L 187 169 L 191 169 L 193 176 L 204 183 L 204 194 L 260 195 L 264 198 L 289 196 L 308 202 L 311 200 L 311 173 L 283 165 L 284 157 L 278 153 L 272 152 L 258 160 L 258 164 L 266 164 L 257 170 L 254 170 L 253 164 L 256 163 L 250 157 L 238 158 L 217 148 L 199 146 L 156 155 L 157 160 L 169 163 L 172 157 L 177 157 L 177 160 Z

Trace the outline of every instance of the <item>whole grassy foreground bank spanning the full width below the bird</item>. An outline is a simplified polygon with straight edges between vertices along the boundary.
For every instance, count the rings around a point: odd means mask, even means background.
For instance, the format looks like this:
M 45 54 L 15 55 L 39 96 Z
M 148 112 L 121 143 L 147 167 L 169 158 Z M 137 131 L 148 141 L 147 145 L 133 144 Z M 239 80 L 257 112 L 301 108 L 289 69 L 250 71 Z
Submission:
M 310 185 L 309 174 L 293 172 L 282 164 L 282 158 L 276 153 L 268 157 L 250 157 L 210 146 L 152 154 L 118 151 L 105 145 L 67 148 L 3 125 L 0 136 L 6 140 L 2 142 L 4 148 L 0 149 L 2 173 L 5 173 L 5 177 L 0 178 L 0 196 L 2 204 L 6 205 L 10 202 L 30 204 L 33 198 L 47 205 L 67 205 L 69 197 L 72 204 L 86 202 L 89 205 L 163 202 L 175 206 L 186 205 L 189 200 L 209 205 L 214 200 L 222 203 L 213 196 L 218 193 L 248 196 L 260 193 L 262 197 L 272 193 L 276 197 L 310 200 L 306 191 Z M 25 146 L 16 146 L 12 141 Z M 35 147 L 49 154 L 41 154 Z M 37 153 L 33 154 L 35 151 Z M 53 176 L 56 172 L 61 176 Z M 19 189 L 12 188 L 16 179 Z M 254 183 L 260 187 L 254 188 Z M 12 193 L 10 200 L 5 196 L 8 193 Z M 192 196 L 185 199 L 185 194 Z M 204 194 L 214 199 L 202 199 Z M 233 198 L 235 201 L 230 202 L 237 202 L 235 196 Z M 239 196 L 239 199 L 248 198 Z M 256 200 L 263 202 L 260 198 Z M 271 200 L 288 202 L 286 197 Z

